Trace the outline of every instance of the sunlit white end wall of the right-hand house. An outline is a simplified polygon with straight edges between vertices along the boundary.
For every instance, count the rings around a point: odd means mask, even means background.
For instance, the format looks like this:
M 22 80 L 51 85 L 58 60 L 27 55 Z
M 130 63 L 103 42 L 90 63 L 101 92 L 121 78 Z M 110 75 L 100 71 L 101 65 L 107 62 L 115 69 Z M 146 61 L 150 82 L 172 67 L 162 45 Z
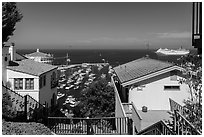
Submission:
M 187 99 L 190 94 L 185 84 L 180 84 L 180 91 L 164 90 L 164 85 L 179 85 L 178 81 L 171 81 L 170 74 L 165 73 L 160 76 L 135 83 L 134 85 L 144 85 L 142 91 L 138 91 L 137 87 L 129 90 L 129 102 L 133 102 L 138 110 L 142 106 L 147 106 L 149 110 L 169 110 L 169 98 L 183 104 L 183 100 Z M 177 76 L 177 78 L 182 78 Z

